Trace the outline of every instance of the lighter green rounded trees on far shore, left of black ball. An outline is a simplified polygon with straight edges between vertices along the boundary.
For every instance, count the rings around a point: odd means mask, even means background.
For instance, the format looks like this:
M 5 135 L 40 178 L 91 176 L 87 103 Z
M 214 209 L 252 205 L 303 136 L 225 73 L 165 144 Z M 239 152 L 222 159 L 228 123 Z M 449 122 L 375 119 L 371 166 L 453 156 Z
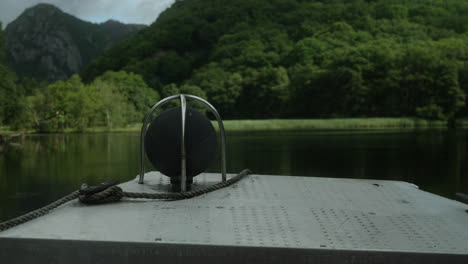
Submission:
M 106 72 L 87 85 L 74 75 L 67 81 L 35 90 L 24 100 L 17 127 L 54 132 L 94 126 L 123 127 L 141 122 L 159 95 L 139 75 Z

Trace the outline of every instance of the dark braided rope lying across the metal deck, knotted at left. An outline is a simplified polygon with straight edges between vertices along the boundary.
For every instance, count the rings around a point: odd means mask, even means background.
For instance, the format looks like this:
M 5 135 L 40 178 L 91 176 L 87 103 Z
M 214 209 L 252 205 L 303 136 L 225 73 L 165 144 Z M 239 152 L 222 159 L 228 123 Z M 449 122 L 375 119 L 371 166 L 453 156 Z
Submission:
M 160 199 L 160 200 L 183 200 L 189 199 L 195 196 L 199 196 L 205 193 L 209 193 L 212 191 L 216 191 L 218 189 L 230 186 L 245 176 L 251 174 L 249 169 L 245 169 L 241 171 L 236 176 L 230 178 L 225 182 L 220 182 L 214 185 L 210 185 L 208 187 L 188 191 L 188 192 L 179 192 L 179 193 L 134 193 L 134 192 L 124 192 L 122 188 L 119 186 L 111 186 L 101 192 L 85 195 L 81 194 L 80 191 L 74 191 L 69 195 L 49 204 L 37 210 L 34 210 L 30 213 L 25 215 L 13 218 L 11 220 L 5 221 L 0 223 L 0 232 L 10 229 L 14 226 L 26 223 L 31 221 L 35 218 L 48 214 L 50 211 L 54 210 L 55 208 L 61 206 L 62 204 L 72 201 L 74 199 L 79 199 L 80 202 L 85 204 L 103 204 L 103 203 L 110 203 L 110 202 L 117 202 L 120 201 L 122 198 L 135 198 L 135 199 Z

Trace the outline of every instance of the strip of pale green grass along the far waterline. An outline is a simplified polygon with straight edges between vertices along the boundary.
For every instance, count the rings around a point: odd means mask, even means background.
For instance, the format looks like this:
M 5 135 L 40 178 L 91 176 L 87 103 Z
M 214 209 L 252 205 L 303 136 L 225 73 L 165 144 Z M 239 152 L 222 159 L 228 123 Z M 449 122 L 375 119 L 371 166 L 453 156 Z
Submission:
M 353 129 L 430 129 L 447 128 L 447 121 L 424 120 L 418 118 L 342 118 L 342 119 L 264 119 L 264 120 L 225 120 L 226 131 L 262 131 L 262 130 L 353 130 Z M 213 121 L 215 127 L 216 122 Z M 468 118 L 458 119 L 455 122 L 457 128 L 468 128 Z M 92 127 L 84 132 L 137 132 L 141 124 L 131 124 L 126 127 L 107 128 Z M 8 127 L 0 127 L 0 133 L 9 134 L 17 132 L 34 131 L 11 131 Z M 75 133 L 76 130 L 67 129 L 65 133 Z

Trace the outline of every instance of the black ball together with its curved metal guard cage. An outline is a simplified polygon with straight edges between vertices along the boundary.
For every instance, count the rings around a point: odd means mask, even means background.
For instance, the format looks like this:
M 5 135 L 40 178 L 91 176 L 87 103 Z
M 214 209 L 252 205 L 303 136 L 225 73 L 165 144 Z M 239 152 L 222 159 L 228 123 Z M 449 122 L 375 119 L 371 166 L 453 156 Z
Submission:
M 180 99 L 181 106 L 160 113 L 149 125 L 160 106 Z M 196 109 L 186 106 L 186 100 L 203 103 L 218 120 L 221 134 L 222 180 L 226 181 L 226 143 L 224 126 L 216 109 L 202 98 L 180 94 L 159 101 L 146 115 L 141 129 L 141 171 L 139 183 L 144 183 L 144 155 L 162 174 L 171 178 L 173 190 L 190 190 L 193 177 L 208 168 L 213 160 L 217 137 L 211 121 Z

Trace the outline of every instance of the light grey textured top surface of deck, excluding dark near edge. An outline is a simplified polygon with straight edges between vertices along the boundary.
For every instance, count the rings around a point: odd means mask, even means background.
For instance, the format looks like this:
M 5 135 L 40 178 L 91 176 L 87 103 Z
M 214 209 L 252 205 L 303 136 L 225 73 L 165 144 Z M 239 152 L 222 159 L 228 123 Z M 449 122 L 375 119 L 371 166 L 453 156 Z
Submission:
M 202 174 L 194 188 L 219 182 Z M 158 172 L 126 191 L 167 191 Z M 468 206 L 395 181 L 250 175 L 190 200 L 77 201 L 5 238 L 468 254 Z

